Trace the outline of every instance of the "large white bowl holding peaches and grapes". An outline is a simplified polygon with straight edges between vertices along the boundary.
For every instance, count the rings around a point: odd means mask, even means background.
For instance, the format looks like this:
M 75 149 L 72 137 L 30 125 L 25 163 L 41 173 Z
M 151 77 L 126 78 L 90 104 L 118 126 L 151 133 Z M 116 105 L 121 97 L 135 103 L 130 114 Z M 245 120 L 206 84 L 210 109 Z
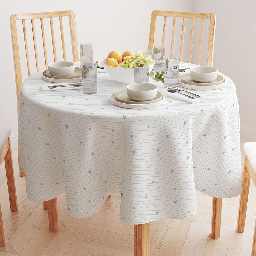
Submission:
M 152 71 L 155 60 L 148 66 L 148 71 Z M 120 84 L 133 84 L 134 83 L 134 68 L 117 68 L 105 65 L 102 63 L 108 75 Z

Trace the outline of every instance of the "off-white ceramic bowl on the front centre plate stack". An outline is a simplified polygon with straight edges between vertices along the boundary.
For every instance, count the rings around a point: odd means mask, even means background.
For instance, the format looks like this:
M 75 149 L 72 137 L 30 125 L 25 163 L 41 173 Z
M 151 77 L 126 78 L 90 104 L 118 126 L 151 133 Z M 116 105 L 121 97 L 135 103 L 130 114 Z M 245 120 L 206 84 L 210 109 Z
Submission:
M 126 92 L 132 100 L 152 100 L 156 97 L 157 86 L 149 83 L 134 83 L 127 85 Z

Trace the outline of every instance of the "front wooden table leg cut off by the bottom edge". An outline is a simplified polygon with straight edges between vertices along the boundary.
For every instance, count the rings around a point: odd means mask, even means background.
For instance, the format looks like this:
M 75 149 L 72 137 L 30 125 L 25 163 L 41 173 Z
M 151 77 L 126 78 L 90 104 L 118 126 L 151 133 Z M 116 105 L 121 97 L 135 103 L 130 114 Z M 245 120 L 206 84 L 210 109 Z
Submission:
M 150 222 L 134 225 L 134 256 L 149 256 Z

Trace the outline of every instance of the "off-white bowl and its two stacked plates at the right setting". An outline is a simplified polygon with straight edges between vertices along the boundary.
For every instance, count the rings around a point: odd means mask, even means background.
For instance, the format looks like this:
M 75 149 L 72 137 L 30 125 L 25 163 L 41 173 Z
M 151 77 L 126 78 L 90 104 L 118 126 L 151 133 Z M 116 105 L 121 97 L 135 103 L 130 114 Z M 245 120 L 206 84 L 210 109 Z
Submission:
M 217 68 L 196 66 L 190 68 L 190 73 L 180 76 L 179 86 L 192 90 L 215 90 L 223 87 L 225 82 Z

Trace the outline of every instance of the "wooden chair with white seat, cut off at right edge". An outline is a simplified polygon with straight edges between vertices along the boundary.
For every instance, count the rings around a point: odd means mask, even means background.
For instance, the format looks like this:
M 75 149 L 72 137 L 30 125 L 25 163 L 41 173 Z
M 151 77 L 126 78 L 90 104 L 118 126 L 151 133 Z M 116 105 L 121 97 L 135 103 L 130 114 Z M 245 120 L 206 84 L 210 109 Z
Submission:
M 238 233 L 244 232 L 247 201 L 250 188 L 250 180 L 256 187 L 256 142 L 246 142 L 244 143 L 244 167 L 243 167 L 243 190 L 240 196 L 240 204 L 237 218 L 237 228 Z M 253 242 L 252 242 L 252 256 L 256 256 L 256 222 L 254 228 Z

